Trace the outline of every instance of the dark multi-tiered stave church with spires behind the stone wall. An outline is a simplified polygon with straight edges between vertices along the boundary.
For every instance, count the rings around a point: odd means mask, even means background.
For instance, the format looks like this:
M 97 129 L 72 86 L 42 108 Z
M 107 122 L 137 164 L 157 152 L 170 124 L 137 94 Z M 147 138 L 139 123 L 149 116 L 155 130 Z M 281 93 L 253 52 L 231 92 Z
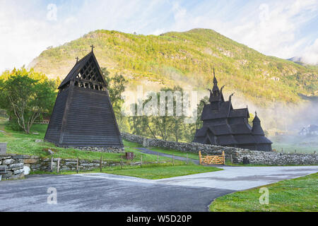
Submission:
M 193 142 L 271 151 L 272 142 L 265 137 L 256 112 L 251 127 L 248 123 L 249 110 L 247 107 L 233 109 L 231 103 L 233 94 L 230 95 L 228 101 L 225 101 L 222 93 L 223 87 L 219 90 L 214 74 L 213 89 L 210 90 L 210 104 L 204 106 L 201 115 L 203 126 L 196 130 Z

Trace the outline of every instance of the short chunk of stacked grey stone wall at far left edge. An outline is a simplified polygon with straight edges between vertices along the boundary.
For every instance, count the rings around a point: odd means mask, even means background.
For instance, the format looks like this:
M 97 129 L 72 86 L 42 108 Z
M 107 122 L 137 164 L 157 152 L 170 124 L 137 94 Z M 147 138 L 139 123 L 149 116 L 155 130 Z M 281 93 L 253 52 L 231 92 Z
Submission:
M 24 178 L 24 163 L 21 155 L 0 155 L 0 166 L 6 169 L 6 173 L 1 173 L 2 179 L 22 179 Z

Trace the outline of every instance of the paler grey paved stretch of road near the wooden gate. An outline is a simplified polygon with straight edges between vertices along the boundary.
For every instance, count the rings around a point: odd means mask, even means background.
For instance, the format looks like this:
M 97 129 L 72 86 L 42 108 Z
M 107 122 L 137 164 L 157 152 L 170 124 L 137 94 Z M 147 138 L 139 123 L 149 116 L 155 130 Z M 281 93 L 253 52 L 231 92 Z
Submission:
M 172 177 L 157 182 L 173 185 L 199 186 L 235 191 L 272 184 L 283 179 L 303 177 L 318 172 L 318 166 L 299 167 L 220 167 L 224 170 Z

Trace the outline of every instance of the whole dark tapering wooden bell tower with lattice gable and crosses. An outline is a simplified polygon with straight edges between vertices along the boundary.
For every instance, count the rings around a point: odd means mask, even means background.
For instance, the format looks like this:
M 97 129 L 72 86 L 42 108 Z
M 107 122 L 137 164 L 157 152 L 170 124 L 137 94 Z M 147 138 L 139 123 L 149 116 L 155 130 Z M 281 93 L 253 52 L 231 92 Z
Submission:
M 123 143 L 102 76 L 92 51 L 59 85 L 45 141 L 59 147 L 99 147 L 122 150 Z

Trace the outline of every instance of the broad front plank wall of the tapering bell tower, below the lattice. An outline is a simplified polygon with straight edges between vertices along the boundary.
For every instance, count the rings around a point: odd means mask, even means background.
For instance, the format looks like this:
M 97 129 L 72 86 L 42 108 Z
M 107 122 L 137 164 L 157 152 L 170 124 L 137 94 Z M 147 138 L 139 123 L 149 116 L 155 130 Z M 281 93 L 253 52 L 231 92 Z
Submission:
M 106 91 L 73 87 L 61 145 L 122 145 Z

